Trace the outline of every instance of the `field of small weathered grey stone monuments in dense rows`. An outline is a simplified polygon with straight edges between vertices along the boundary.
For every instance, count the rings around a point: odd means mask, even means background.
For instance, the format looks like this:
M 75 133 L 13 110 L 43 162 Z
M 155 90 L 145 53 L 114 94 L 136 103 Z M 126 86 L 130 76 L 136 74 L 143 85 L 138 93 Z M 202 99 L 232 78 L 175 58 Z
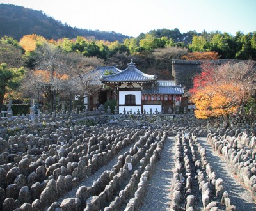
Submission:
M 227 125 L 221 119 L 196 120 L 193 113 L 156 113 L 114 115 L 99 108 L 2 120 L 0 209 L 138 210 L 168 136 L 175 136 L 176 148 L 172 210 L 181 204 L 193 210 L 197 191 L 205 210 L 235 209 L 197 141 L 200 136 L 208 137 L 256 196 L 254 116 L 235 116 Z M 116 164 L 92 186 L 79 185 L 115 156 Z M 56 202 L 75 187 L 76 196 Z

